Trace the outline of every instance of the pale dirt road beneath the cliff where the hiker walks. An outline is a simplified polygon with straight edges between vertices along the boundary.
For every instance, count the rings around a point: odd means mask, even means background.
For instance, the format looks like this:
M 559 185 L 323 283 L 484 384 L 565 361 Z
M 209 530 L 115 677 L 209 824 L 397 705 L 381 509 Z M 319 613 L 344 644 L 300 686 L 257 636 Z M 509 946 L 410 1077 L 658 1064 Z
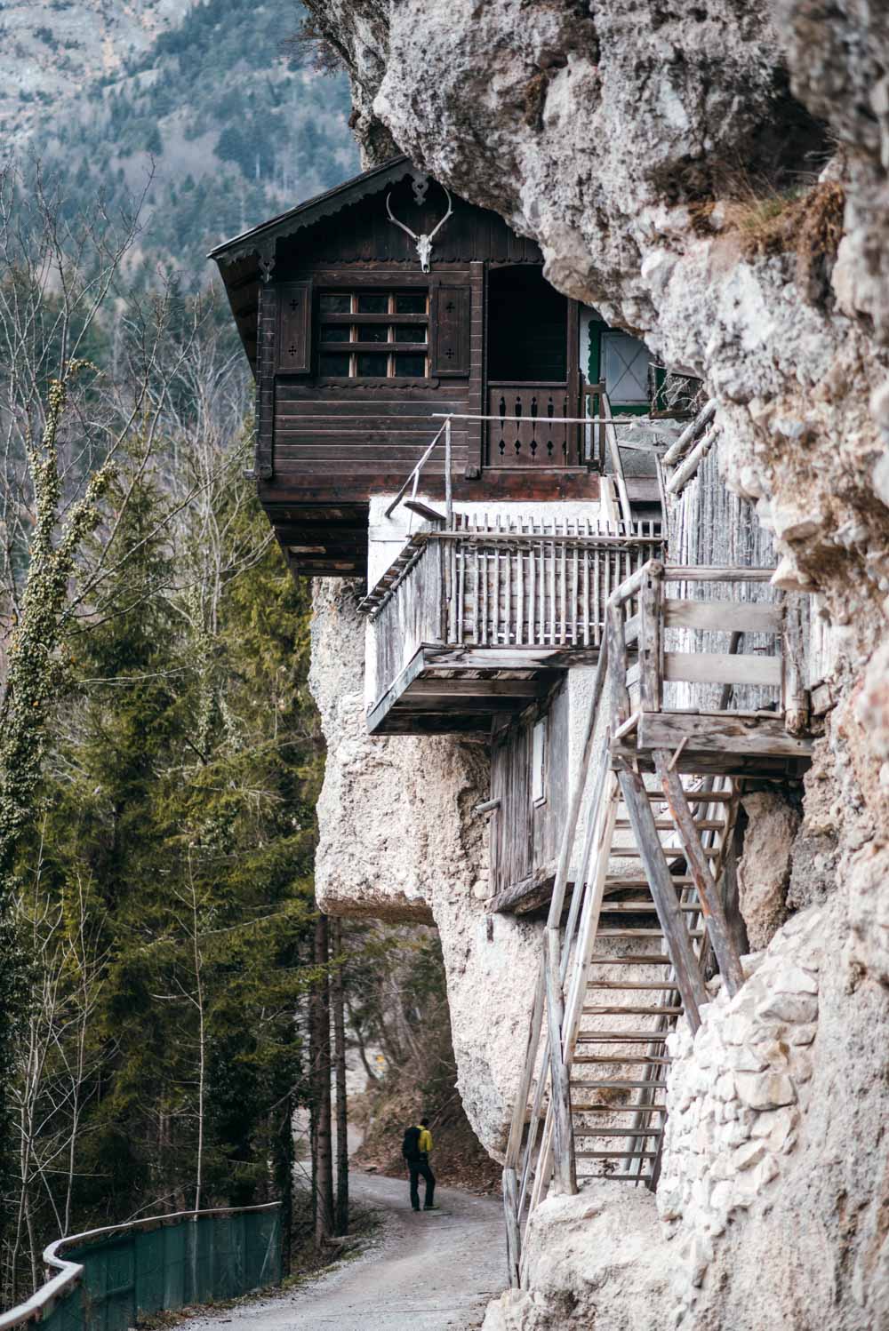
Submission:
M 351 1195 L 383 1219 L 382 1240 L 339 1270 L 273 1299 L 181 1331 L 468 1331 L 506 1283 L 503 1210 L 498 1198 L 435 1191 L 441 1211 L 414 1214 L 407 1182 L 353 1174 Z M 422 1189 L 421 1189 L 422 1191 Z

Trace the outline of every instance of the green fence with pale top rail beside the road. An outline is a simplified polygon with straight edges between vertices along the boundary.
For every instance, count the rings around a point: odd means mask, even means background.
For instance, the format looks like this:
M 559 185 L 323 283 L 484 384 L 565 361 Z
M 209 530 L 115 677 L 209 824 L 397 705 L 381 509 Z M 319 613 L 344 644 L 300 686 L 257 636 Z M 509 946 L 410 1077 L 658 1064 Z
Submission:
M 128 1331 L 162 1308 L 230 1299 L 281 1280 L 281 1203 L 153 1217 L 57 1239 L 51 1279 L 0 1331 Z

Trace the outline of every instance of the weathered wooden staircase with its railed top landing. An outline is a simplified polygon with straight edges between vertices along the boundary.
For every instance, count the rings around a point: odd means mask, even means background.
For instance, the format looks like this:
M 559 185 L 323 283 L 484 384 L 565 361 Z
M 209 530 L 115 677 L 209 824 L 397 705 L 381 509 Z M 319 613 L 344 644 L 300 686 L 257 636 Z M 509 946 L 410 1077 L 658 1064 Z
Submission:
M 504 1161 L 515 1286 L 523 1221 L 551 1183 L 574 1193 L 604 1174 L 656 1186 L 667 1036 L 683 1016 L 697 1029 L 713 969 L 729 993 L 743 984 L 724 905 L 741 784 L 809 761 L 799 606 L 672 600 L 664 587 L 724 592 L 769 576 L 651 560 L 608 602 Z M 728 632 L 729 652 L 667 651 L 671 627 L 693 630 L 697 646 L 701 630 Z M 669 683 L 719 685 L 717 705 L 665 709 Z M 729 711 L 732 688 L 749 684 L 777 696 Z

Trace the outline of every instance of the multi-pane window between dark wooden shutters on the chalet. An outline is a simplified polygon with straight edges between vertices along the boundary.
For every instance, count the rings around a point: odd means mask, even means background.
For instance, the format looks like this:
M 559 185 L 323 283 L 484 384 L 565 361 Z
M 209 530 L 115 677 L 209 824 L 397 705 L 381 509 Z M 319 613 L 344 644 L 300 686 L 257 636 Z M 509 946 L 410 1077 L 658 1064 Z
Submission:
M 429 291 L 322 291 L 318 314 L 322 375 L 429 377 Z

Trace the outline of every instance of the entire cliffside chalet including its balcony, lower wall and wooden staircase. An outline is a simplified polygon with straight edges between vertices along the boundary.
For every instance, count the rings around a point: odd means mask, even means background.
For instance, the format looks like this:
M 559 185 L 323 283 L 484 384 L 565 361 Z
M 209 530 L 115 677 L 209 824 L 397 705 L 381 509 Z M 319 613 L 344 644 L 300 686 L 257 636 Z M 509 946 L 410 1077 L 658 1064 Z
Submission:
M 740 799 L 810 764 L 808 608 L 707 507 L 720 486 L 684 494 L 716 402 L 625 475 L 616 426 L 664 411 L 644 346 L 405 157 L 213 258 L 291 570 L 370 567 L 369 731 L 486 736 L 486 909 L 548 910 L 503 1177 L 523 1284 L 551 1186 L 656 1186 L 667 1037 L 697 1029 L 715 968 L 743 982 Z

